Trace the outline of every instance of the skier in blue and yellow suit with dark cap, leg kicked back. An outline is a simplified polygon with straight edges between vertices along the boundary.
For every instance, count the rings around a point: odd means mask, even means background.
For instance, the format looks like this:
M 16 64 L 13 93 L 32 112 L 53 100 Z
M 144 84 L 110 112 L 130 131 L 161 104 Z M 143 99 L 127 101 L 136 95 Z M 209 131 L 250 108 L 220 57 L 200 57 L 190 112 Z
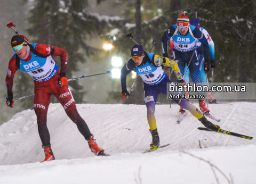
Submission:
M 144 97 L 147 106 L 147 119 L 150 132 L 153 137 L 150 147 L 154 148 L 159 146 L 159 136 L 155 118 L 156 99 L 159 93 L 166 95 L 166 83 L 172 82 L 168 77 L 166 77 L 161 65 L 171 67 L 177 76 L 178 82 L 183 83 L 183 80 L 181 78 L 178 64 L 170 58 L 161 57 L 155 53 L 146 53 L 143 51 L 141 45 L 134 45 L 132 47 L 131 56 L 132 58 L 123 66 L 121 71 L 122 96 L 124 99 L 126 99 L 127 96 L 130 96 L 126 89 L 127 74 L 129 74 L 131 71 L 137 72 L 144 82 Z M 177 95 L 179 93 L 174 91 L 171 94 Z M 213 131 L 219 130 L 219 126 L 208 121 L 205 116 L 186 99 L 173 99 L 173 101 L 179 104 L 181 107 L 186 108 L 199 121 L 201 121 L 206 128 Z

